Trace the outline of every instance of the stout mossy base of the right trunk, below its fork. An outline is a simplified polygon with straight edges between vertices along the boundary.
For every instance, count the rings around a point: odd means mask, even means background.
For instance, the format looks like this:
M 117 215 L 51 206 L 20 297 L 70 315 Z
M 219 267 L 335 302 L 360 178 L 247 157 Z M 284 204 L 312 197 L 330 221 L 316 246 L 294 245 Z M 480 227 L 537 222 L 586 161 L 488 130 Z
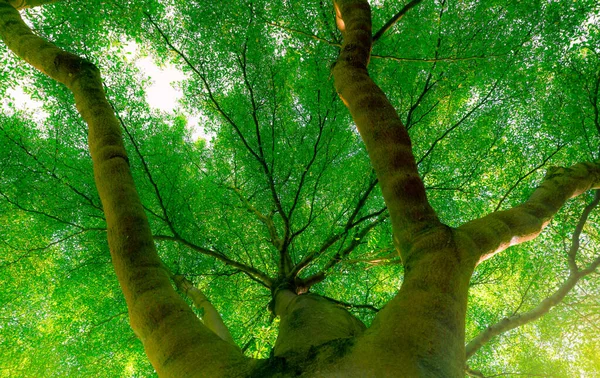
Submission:
M 375 376 L 461 377 L 475 260 L 445 226 L 413 248 L 400 291 L 357 341 L 351 360 Z

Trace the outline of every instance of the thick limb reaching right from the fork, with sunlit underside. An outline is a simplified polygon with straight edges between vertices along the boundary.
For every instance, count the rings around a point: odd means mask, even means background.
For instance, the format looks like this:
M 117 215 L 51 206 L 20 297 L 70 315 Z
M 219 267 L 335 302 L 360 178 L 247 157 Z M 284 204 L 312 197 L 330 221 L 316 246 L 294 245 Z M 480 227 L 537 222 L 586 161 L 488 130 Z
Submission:
M 598 188 L 600 163 L 549 169 L 527 201 L 510 210 L 496 211 L 465 223 L 457 231 L 472 243 L 475 257 L 483 261 L 537 237 L 568 199 Z

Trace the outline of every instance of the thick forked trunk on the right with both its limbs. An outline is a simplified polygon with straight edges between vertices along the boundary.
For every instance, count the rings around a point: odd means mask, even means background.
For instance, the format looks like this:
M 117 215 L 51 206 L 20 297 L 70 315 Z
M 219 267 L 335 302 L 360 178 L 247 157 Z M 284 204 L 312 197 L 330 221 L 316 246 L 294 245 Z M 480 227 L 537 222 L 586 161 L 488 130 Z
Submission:
M 440 224 L 425 195 L 409 135 L 369 77 L 371 14 L 366 0 L 335 0 L 343 36 L 335 87 L 367 147 L 405 266 L 402 288 L 356 342 L 354 370 L 375 375 L 464 375 L 470 276 L 481 258 L 537 236 L 564 202 L 600 185 L 598 164 L 553 172 L 524 204 L 469 222 Z

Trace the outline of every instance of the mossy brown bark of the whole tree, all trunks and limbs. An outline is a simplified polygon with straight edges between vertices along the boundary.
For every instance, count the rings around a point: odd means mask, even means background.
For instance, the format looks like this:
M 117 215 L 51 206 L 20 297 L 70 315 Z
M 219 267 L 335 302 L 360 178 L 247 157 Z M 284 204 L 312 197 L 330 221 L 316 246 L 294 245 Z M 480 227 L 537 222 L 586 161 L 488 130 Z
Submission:
M 343 45 L 332 69 L 335 87 L 377 173 L 392 221 L 394 244 L 404 263 L 404 282 L 368 330 L 347 311 L 318 295 L 297 295 L 287 288 L 275 288 L 274 311 L 281 323 L 273 357 L 251 362 L 233 344 L 218 312 L 199 290 L 189 282 L 182 284 L 194 303 L 208 311 L 206 324 L 171 286 L 154 247 L 129 170 L 120 124 L 106 101 L 98 69 L 35 36 L 15 10 L 49 2 L 0 0 L 0 36 L 15 54 L 74 94 L 77 109 L 89 126 L 96 185 L 130 323 L 161 377 L 461 377 L 467 292 L 477 262 L 534 238 L 568 198 L 600 186 L 599 164 L 578 164 L 551 173 L 528 201 L 511 210 L 492 213 L 458 229 L 441 224 L 427 200 L 409 135 L 367 71 L 372 46 L 369 4 L 366 0 L 336 0 Z M 266 174 L 269 176 L 268 169 Z M 276 195 L 274 201 L 284 217 L 287 235 L 289 219 Z M 273 240 L 282 240 L 272 220 L 257 215 L 266 219 Z M 351 223 L 349 220 L 346 231 Z M 321 250 L 340 237 L 327 241 Z M 159 238 L 184 242 L 177 235 Z M 196 248 L 238 267 L 266 287 L 275 286 L 271 278 L 251 266 Z M 283 273 L 291 271 L 293 279 L 314 256 L 310 254 L 294 269 L 282 268 Z M 326 266 L 330 264 L 333 262 Z M 324 272 L 320 272 L 307 281 L 314 283 L 323 277 Z M 310 286 L 306 281 L 304 284 Z M 551 304 L 561 298 L 553 298 Z

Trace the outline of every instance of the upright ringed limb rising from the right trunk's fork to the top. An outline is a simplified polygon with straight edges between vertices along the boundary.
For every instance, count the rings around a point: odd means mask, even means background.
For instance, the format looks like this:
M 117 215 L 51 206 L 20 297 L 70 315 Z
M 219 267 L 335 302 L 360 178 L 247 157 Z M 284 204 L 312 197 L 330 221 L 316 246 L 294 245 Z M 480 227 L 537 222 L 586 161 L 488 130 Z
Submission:
M 385 94 L 367 72 L 371 53 L 371 10 L 365 0 L 335 3 L 343 45 L 332 69 L 335 87 L 356 123 L 390 212 L 400 253 L 426 230 L 439 225 L 417 171 L 408 132 Z

